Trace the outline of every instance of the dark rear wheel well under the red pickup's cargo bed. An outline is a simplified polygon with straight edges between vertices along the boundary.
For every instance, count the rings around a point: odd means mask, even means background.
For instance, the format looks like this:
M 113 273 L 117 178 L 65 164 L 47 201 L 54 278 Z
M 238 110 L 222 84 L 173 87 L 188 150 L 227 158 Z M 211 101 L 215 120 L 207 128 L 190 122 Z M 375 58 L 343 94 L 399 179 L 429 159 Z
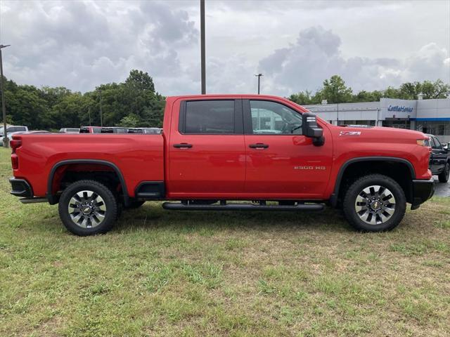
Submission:
M 78 180 L 96 180 L 109 187 L 116 195 L 127 194 L 122 176 L 114 166 L 89 162 L 74 162 L 56 166 L 49 177 L 48 194 L 54 196 Z

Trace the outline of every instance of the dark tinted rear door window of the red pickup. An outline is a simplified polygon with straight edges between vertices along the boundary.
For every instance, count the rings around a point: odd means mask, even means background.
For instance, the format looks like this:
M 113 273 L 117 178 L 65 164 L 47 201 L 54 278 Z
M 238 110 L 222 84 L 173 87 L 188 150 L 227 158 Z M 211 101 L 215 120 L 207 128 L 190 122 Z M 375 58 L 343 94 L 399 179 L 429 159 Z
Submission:
M 186 102 L 184 133 L 234 133 L 234 100 Z

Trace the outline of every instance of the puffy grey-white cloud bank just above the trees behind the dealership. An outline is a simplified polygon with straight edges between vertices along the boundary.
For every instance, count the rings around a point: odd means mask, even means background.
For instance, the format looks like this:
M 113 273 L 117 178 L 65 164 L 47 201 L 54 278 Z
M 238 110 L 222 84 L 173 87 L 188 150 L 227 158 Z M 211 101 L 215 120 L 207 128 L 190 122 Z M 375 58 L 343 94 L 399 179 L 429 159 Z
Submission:
M 406 60 L 395 58 L 345 58 L 341 40 L 330 30 L 311 27 L 300 32 L 295 44 L 281 48 L 259 62 L 259 70 L 269 74 L 269 91 L 288 95 L 319 88 L 323 79 L 340 74 L 354 91 L 399 86 L 405 81 L 450 83 L 446 57 L 449 51 L 430 43 Z

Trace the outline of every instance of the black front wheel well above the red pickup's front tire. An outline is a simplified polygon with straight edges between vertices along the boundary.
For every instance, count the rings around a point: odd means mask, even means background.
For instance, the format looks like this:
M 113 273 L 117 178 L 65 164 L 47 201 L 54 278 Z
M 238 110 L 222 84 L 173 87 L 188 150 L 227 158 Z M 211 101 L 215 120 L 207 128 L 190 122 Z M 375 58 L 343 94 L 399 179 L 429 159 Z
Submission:
M 413 177 L 408 164 L 403 161 L 367 160 L 356 161 L 345 168 L 338 187 L 338 204 L 340 204 L 345 192 L 356 179 L 373 173 L 383 174 L 397 181 L 405 193 L 406 201 L 412 201 L 411 181 L 415 177 Z

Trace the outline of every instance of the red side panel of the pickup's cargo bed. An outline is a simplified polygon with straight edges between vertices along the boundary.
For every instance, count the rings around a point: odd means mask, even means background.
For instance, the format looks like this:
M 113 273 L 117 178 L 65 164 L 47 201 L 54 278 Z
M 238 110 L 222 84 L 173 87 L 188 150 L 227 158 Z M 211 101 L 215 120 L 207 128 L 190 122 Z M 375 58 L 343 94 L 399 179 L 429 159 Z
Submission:
M 115 164 L 124 176 L 130 197 L 143 180 L 164 180 L 164 140 L 161 135 L 110 133 L 20 135 L 16 150 L 19 168 L 15 178 L 32 185 L 34 195 L 44 197 L 51 169 L 68 159 L 96 159 Z

